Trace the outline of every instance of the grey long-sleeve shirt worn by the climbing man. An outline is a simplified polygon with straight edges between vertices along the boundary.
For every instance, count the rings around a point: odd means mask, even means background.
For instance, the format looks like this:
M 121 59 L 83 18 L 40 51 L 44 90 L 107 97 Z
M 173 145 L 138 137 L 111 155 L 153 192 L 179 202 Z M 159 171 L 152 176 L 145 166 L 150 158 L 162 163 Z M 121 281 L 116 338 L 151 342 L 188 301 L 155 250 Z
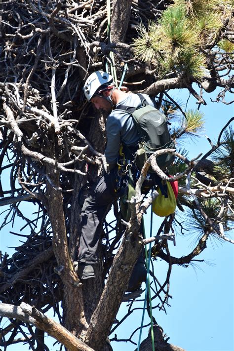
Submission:
M 142 95 L 151 106 L 154 106 L 153 101 L 148 95 Z M 118 107 L 119 105 L 139 107 L 141 106 L 141 100 L 136 94 L 127 94 L 126 98 L 121 100 L 116 106 Z M 133 119 L 129 116 L 129 113 L 126 111 L 116 109 L 113 110 L 107 118 L 107 145 L 105 156 L 111 168 L 117 163 L 120 145 L 136 146 L 140 139 Z

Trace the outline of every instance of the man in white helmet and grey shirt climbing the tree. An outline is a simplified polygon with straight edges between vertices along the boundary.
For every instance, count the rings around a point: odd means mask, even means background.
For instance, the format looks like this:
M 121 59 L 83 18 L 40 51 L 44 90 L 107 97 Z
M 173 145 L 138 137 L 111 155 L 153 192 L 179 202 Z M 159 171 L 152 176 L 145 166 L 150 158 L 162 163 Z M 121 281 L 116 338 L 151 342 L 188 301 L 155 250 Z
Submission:
M 93 264 L 97 262 L 101 232 L 100 227 L 102 226 L 104 215 L 107 212 L 107 206 L 120 195 L 126 195 L 129 176 L 133 183 L 135 183 L 133 177 L 136 179 L 136 175 L 139 173 L 136 166 L 134 167 L 134 154 L 137 152 L 141 136 L 138 132 L 137 125 L 134 124 L 134 119 L 131 118 L 127 111 L 122 109 L 124 106 L 127 108 L 140 108 L 141 106 L 145 106 L 145 104 L 154 106 L 154 102 L 147 95 L 139 96 L 118 90 L 117 87 L 113 85 L 113 77 L 102 71 L 94 72 L 87 78 L 84 84 L 84 94 L 87 100 L 90 101 L 97 110 L 104 110 L 109 114 L 106 122 L 107 146 L 105 156 L 111 170 L 109 174 L 105 173 L 95 185 L 93 195 L 85 200 L 81 212 L 82 221 L 78 253 L 78 275 L 81 279 L 88 279 L 94 278 Z M 143 102 L 141 101 L 142 99 L 144 99 Z M 156 111 L 156 114 L 159 114 L 158 111 Z M 156 114 L 152 117 L 155 123 L 157 120 Z M 140 118 L 141 117 L 139 117 L 139 119 Z M 144 112 L 144 118 L 144 123 L 146 123 L 146 112 Z M 161 118 L 161 116 L 159 115 L 158 118 Z M 163 120 L 163 122 L 165 125 L 164 134 L 166 134 L 166 136 L 168 135 L 169 139 L 169 132 L 165 120 Z M 151 126 L 154 128 L 153 124 Z M 162 141 L 159 147 L 164 149 L 166 148 L 166 142 L 168 140 L 166 137 L 163 138 L 163 127 L 160 124 L 158 127 L 155 125 L 152 133 L 157 135 L 157 128 L 159 128 L 160 139 Z M 124 158 L 119 155 L 121 145 L 121 154 L 124 155 Z M 156 149 L 154 150 L 156 151 Z M 148 179 L 148 191 L 150 190 L 150 186 L 156 184 L 154 180 L 153 175 L 151 179 Z M 140 263 L 137 266 L 140 266 Z M 133 272 L 132 280 L 135 278 L 137 281 L 140 281 L 139 277 L 136 276 L 137 273 L 140 273 L 142 277 L 145 278 L 144 272 L 146 272 L 146 270 L 144 269 L 143 260 L 141 260 L 141 267 L 138 267 L 138 270 Z M 135 286 L 133 282 L 132 284 Z

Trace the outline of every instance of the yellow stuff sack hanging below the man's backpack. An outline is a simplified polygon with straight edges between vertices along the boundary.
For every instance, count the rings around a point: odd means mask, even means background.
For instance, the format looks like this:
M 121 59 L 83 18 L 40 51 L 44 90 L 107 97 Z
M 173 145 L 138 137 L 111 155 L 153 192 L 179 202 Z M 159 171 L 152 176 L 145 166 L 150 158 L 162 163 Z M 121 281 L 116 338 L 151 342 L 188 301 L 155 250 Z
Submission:
M 159 217 L 166 217 L 175 212 L 176 209 L 176 197 L 171 187 L 170 182 L 166 182 L 167 195 L 162 195 L 159 187 L 157 187 L 158 196 L 154 199 L 152 206 L 153 212 Z

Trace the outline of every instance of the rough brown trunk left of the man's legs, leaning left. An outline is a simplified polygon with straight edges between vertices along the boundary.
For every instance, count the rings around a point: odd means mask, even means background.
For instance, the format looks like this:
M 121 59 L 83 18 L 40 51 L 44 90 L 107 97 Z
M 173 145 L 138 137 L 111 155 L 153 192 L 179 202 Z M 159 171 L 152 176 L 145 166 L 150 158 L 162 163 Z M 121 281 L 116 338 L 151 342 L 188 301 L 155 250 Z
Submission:
M 48 173 L 58 187 L 59 172 L 56 169 L 50 169 Z M 66 311 L 64 324 L 74 335 L 79 335 L 86 328 L 87 323 L 84 316 L 81 284 L 68 252 L 62 194 L 50 184 L 47 189 L 48 212 L 53 229 L 53 250 L 58 264 L 56 273 L 61 276 L 64 284 L 64 311 Z

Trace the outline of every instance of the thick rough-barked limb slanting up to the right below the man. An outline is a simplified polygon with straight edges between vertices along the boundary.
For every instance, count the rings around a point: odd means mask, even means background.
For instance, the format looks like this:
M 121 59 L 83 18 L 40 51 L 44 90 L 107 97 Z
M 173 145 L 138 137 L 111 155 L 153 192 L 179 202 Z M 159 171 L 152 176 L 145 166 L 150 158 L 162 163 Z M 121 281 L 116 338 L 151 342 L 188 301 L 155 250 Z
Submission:
M 131 272 L 142 249 L 141 238 L 138 234 L 139 225 L 135 224 L 134 227 L 133 233 L 135 235 L 127 230 L 123 237 L 85 336 L 85 342 L 95 350 L 102 350 L 122 302 Z

